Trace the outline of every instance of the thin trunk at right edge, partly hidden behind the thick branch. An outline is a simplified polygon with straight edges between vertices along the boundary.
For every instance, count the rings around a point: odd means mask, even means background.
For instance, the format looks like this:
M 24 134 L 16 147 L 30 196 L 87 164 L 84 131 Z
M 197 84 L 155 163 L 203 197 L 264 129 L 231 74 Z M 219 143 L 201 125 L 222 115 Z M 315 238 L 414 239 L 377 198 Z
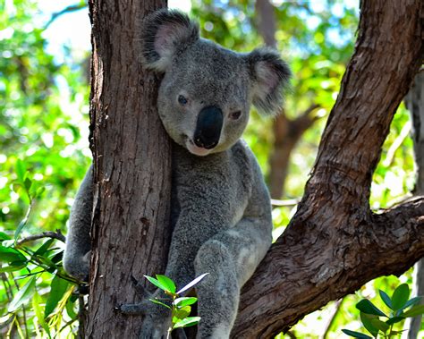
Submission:
M 414 86 L 405 97 L 405 103 L 411 113 L 412 119 L 412 139 L 415 154 L 415 164 L 417 165 L 417 176 L 415 182 L 414 194 L 417 196 L 424 195 L 424 72 L 420 72 L 415 77 Z M 424 294 L 424 259 L 414 267 L 414 296 Z M 424 300 L 420 301 L 421 304 Z M 407 332 L 403 333 L 403 337 L 408 339 L 416 339 L 421 327 L 421 316 L 416 318 L 408 318 L 405 322 Z

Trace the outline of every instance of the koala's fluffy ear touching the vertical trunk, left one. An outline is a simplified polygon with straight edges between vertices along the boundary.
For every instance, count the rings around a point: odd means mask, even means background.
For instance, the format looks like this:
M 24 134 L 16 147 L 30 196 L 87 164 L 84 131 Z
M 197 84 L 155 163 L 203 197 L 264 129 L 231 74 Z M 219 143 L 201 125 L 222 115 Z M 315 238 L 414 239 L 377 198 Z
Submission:
M 178 11 L 162 9 L 150 14 L 141 37 L 142 64 L 165 72 L 176 53 L 199 39 L 199 25 Z

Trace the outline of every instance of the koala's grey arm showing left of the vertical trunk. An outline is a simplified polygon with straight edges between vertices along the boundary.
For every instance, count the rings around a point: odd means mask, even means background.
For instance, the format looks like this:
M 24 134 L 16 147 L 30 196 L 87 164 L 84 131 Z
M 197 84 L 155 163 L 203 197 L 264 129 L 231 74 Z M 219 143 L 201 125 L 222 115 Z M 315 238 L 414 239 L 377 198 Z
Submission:
M 87 281 L 90 260 L 90 227 L 93 208 L 92 165 L 85 174 L 72 205 L 64 250 L 64 270 L 81 281 Z

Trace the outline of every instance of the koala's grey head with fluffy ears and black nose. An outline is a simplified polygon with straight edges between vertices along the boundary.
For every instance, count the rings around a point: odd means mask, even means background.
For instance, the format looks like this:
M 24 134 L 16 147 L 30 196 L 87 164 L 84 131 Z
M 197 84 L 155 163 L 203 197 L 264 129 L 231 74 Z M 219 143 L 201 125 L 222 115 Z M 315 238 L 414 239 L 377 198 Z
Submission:
M 148 16 L 141 39 L 142 64 L 163 73 L 158 113 L 169 136 L 197 156 L 222 152 L 239 140 L 250 104 L 276 113 L 290 77 L 276 51 L 241 54 L 199 38 L 183 13 Z

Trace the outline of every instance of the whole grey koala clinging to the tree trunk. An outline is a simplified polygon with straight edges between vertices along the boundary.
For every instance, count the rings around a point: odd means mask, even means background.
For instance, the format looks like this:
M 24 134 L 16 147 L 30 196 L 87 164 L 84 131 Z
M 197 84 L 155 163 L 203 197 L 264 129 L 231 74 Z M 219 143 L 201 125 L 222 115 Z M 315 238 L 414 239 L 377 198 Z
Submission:
M 228 338 L 240 290 L 271 245 L 271 207 L 256 158 L 240 139 L 250 104 L 275 112 L 290 77 L 268 48 L 239 54 L 199 38 L 185 14 L 160 10 L 144 23 L 142 64 L 163 73 L 157 106 L 174 140 L 172 223 L 165 275 L 181 288 L 203 273 L 198 338 Z M 64 268 L 89 274 L 91 167 L 72 207 Z M 150 301 L 123 305 L 144 313 L 141 338 L 165 338 L 170 314 Z

